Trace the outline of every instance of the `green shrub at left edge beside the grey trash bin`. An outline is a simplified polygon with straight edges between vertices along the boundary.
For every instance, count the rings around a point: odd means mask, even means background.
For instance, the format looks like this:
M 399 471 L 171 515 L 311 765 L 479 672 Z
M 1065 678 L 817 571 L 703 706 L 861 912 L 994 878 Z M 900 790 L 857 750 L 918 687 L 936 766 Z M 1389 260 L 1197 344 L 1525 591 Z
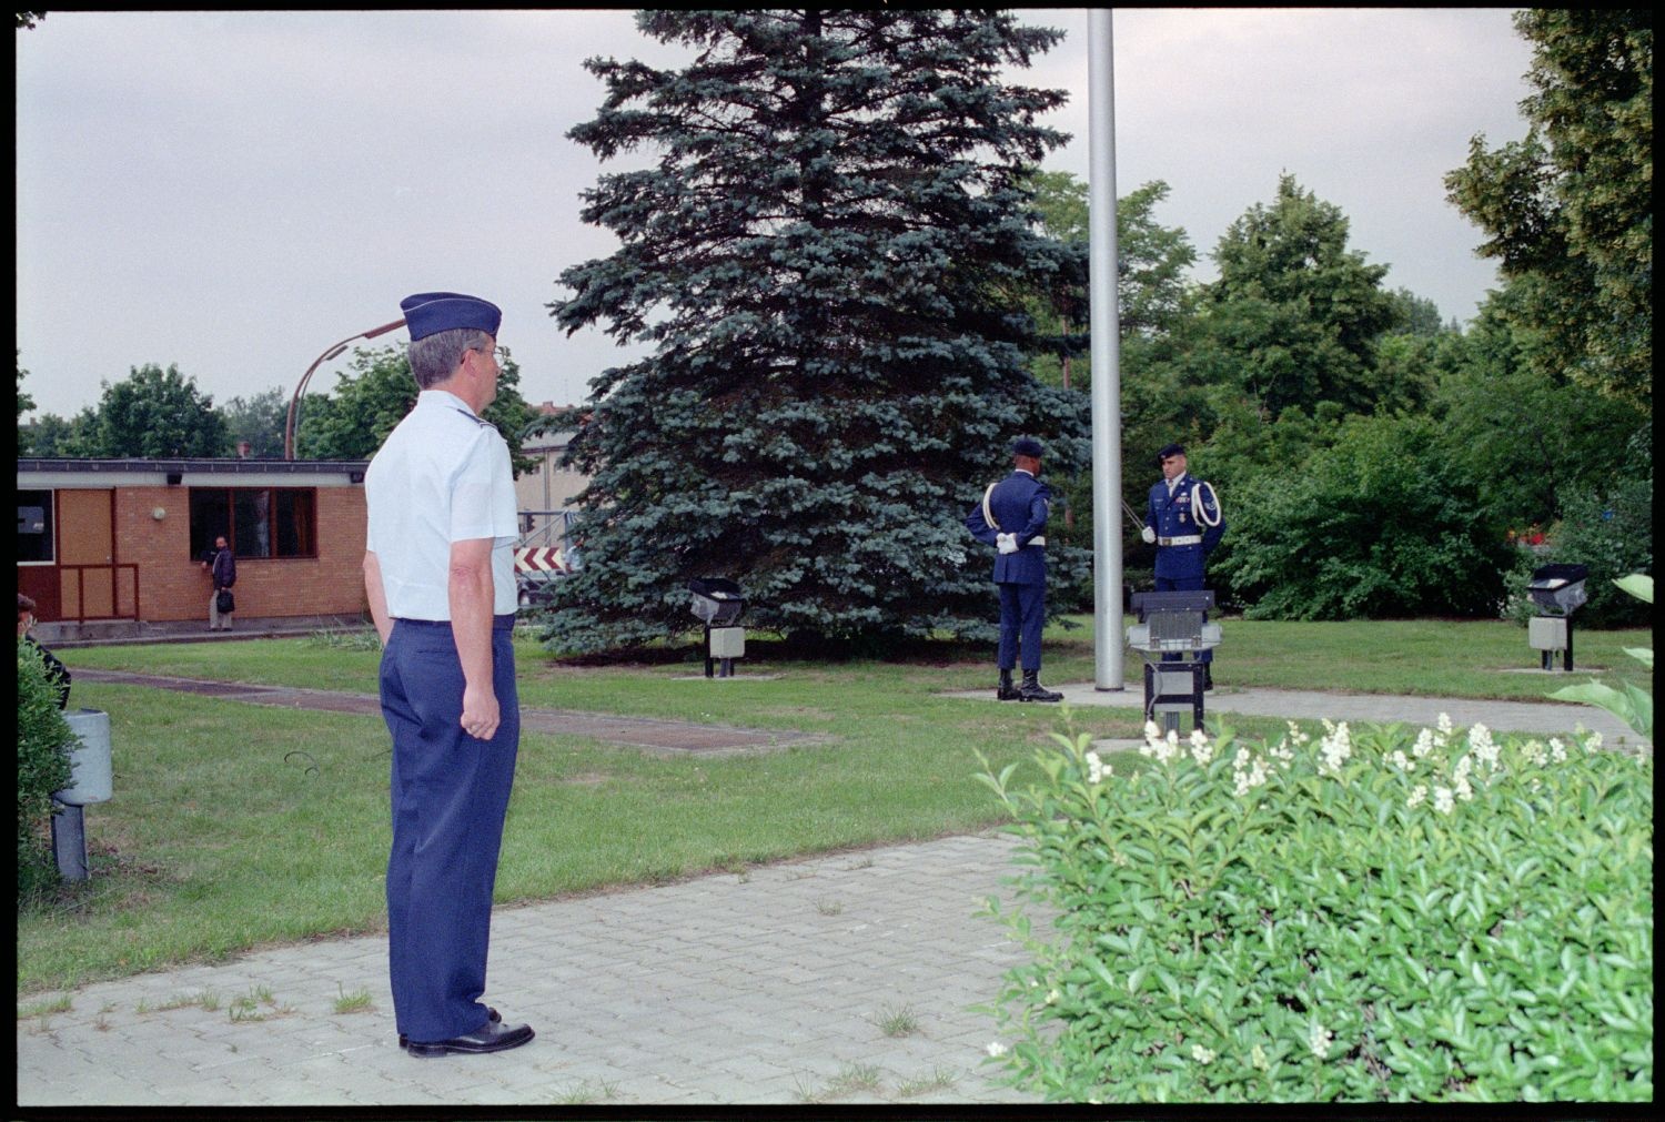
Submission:
M 28 643 L 17 644 L 17 891 L 23 899 L 57 879 L 43 842 L 52 792 L 70 786 L 75 732 L 58 711 L 47 663 Z

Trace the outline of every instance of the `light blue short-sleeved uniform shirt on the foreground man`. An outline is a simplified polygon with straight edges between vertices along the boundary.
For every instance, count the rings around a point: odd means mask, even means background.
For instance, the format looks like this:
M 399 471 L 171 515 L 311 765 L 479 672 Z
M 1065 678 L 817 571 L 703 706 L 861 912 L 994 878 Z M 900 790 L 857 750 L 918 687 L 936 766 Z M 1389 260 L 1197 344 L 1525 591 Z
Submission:
M 456 395 L 423 390 L 365 473 L 366 548 L 388 614 L 450 619 L 451 543 L 491 538 L 493 613 L 513 614 L 518 516 L 509 448 Z

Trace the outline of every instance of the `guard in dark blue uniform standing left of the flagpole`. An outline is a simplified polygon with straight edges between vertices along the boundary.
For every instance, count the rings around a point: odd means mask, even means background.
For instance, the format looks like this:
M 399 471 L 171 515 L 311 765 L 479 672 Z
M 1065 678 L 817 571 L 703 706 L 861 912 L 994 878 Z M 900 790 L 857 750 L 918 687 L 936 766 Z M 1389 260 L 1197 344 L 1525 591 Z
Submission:
M 1046 519 L 1052 489 L 1041 483 L 1041 441 L 1012 443 L 1012 474 L 989 484 L 966 514 L 966 529 L 994 546 L 994 586 L 1001 593 L 1001 646 L 996 666 L 1001 701 L 1062 701 L 1041 684 L 1041 626 L 1046 623 Z M 1012 689 L 1012 666 L 1024 664 L 1022 689 Z

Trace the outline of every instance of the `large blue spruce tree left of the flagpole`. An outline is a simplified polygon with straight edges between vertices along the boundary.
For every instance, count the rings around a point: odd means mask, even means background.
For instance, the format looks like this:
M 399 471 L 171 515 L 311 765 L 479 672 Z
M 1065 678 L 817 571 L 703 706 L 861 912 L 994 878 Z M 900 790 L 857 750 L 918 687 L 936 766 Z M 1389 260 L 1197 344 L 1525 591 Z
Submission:
M 551 311 L 651 356 L 606 370 L 566 463 L 589 473 L 551 646 L 686 631 L 688 581 L 726 576 L 754 628 L 832 643 L 992 634 L 989 558 L 962 518 L 1014 436 L 1047 469 L 1089 453 L 1086 400 L 1024 368 L 1022 295 L 1069 266 L 1027 173 L 1066 140 L 1062 92 L 1002 82 L 1061 32 L 992 12 L 643 12 L 681 70 L 589 60 L 571 137 L 603 160 L 583 216 L 619 248 L 568 268 Z M 1086 556 L 1052 558 L 1054 606 Z M 1062 588 L 1061 588 L 1062 586 Z

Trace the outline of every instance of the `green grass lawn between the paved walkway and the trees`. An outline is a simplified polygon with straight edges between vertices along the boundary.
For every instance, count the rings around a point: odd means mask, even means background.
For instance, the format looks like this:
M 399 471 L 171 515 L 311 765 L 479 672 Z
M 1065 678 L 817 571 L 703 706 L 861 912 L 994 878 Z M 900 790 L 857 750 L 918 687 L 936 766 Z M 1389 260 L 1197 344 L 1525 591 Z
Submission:
M 1091 681 L 1091 619 L 1047 633 L 1042 681 Z M 1538 699 L 1567 679 L 1503 623 L 1280 624 L 1227 619 L 1220 689 L 1284 686 Z M 1622 648 L 1645 631 L 1578 633 L 1580 668 L 1652 688 Z M 521 704 L 803 729 L 823 744 L 669 757 L 526 734 L 498 872 L 500 904 L 651 884 L 781 857 L 979 831 L 1002 821 L 972 779 L 1059 727 L 1056 706 L 942 698 L 991 689 L 987 651 L 906 663 L 769 661 L 711 683 L 703 659 L 574 668 L 518 649 Z M 378 654 L 320 639 L 108 646 L 60 653 L 107 668 L 375 693 Z M 1129 676 L 1139 658 L 1127 658 Z M 1573 679 L 1582 681 L 1577 674 Z M 115 799 L 88 807 L 93 876 L 18 909 L 18 995 L 213 961 L 270 942 L 383 926 L 390 742 L 380 717 L 248 706 L 78 679 L 72 704 L 112 717 Z M 1094 736 L 1139 734 L 1127 707 L 1074 712 Z M 1234 719 L 1275 736 L 1279 721 Z M 967 906 L 969 907 L 969 906 Z

